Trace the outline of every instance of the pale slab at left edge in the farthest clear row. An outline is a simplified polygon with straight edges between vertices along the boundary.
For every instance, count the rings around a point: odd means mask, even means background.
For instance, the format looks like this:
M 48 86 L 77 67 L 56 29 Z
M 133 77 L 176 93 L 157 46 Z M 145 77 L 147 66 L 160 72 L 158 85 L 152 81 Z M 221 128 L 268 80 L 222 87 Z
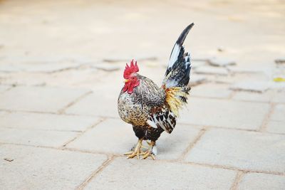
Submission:
M 37 112 L 57 112 L 86 89 L 19 86 L 0 94 L 0 109 Z

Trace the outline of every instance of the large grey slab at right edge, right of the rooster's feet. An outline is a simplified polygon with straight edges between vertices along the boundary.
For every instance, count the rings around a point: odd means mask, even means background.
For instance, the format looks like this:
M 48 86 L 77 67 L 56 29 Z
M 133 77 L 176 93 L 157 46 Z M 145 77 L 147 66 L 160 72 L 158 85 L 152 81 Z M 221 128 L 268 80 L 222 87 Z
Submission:
M 187 162 L 285 173 L 285 135 L 212 129 L 187 155 Z

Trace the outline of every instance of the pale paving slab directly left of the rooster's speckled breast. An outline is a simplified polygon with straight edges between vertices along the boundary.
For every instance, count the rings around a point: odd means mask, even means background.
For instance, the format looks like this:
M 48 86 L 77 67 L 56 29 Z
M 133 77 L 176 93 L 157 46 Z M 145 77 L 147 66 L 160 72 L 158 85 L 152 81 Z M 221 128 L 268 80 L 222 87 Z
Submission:
M 119 117 L 117 101 L 120 91 L 114 93 L 95 92 L 76 104 L 68 107 L 66 113 L 78 115 L 95 115 L 105 117 Z

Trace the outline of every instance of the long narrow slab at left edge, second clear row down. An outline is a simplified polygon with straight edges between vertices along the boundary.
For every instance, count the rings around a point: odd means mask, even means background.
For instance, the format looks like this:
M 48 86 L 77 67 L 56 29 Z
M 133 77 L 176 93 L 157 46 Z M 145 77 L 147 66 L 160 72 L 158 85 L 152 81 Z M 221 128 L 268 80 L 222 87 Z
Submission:
M 3 112 L 0 128 L 56 130 L 80 132 L 99 121 L 98 117 L 54 115 L 31 112 Z

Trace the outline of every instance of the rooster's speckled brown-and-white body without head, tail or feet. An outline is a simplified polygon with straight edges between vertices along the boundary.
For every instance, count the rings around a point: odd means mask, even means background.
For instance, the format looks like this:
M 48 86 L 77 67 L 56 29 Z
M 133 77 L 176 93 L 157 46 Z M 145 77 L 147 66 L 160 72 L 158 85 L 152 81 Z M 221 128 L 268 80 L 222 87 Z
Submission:
M 150 127 L 147 120 L 154 120 L 152 118 L 159 110 L 171 112 L 167 107 L 166 93 L 149 78 L 138 75 L 138 80 L 140 85 L 134 88 L 133 93 L 124 93 L 123 89 L 121 90 L 118 98 L 118 112 L 123 121 L 133 125 L 135 135 L 139 139 L 156 141 L 163 130 L 161 127 Z

